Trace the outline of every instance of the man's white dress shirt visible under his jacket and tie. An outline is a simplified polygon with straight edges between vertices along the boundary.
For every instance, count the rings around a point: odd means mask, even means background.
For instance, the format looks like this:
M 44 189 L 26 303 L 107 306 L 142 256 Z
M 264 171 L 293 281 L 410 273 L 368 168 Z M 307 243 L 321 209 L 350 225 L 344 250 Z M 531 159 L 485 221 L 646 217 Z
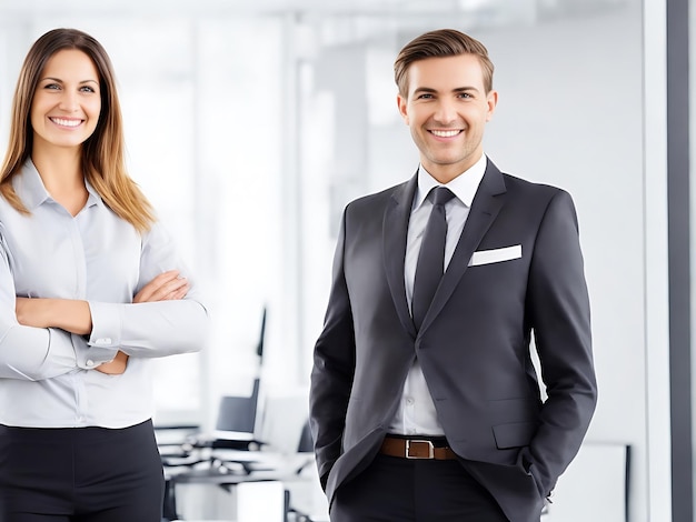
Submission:
M 447 217 L 447 239 L 445 242 L 445 269 L 451 259 L 464 224 L 469 215 L 471 202 L 478 190 L 478 185 L 486 172 L 486 154 L 471 165 L 467 171 L 451 180 L 447 187 L 455 194 L 455 198 L 445 203 L 445 214 Z M 432 202 L 427 199 L 430 189 L 439 187 L 439 183 L 420 165 L 418 169 L 418 188 L 414 195 L 411 215 L 408 222 L 408 237 L 406 240 L 406 261 L 404 265 L 404 277 L 406 282 L 406 299 L 410 309 L 414 295 L 414 277 L 416 274 L 416 263 L 422 234 L 426 230 Z M 443 426 L 437 419 L 437 411 L 428 384 L 426 383 L 420 362 L 411 367 L 401 396 L 401 404 L 396 412 L 389 426 L 389 433 L 402 435 L 443 435 Z

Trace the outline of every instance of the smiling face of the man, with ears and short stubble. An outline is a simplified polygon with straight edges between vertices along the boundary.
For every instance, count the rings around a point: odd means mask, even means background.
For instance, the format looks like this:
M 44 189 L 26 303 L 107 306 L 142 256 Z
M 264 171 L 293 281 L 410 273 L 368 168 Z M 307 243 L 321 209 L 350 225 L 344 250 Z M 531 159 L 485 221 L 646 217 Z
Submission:
M 410 64 L 408 96 L 397 97 L 422 167 L 439 182 L 453 180 L 478 159 L 484 128 L 498 101 L 486 92 L 478 58 L 460 54 Z

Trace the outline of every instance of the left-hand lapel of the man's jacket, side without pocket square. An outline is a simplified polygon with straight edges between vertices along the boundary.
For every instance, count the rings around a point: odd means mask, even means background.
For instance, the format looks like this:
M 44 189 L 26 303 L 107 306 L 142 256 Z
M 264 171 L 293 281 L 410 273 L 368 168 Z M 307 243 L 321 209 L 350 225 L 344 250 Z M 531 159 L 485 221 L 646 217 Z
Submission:
M 416 338 L 416 328 L 414 327 L 414 321 L 408 310 L 408 301 L 406 300 L 404 261 L 406 258 L 408 220 L 410 219 L 417 185 L 418 173 L 394 191 L 385 211 L 382 225 L 385 271 L 391 299 L 404 329 L 414 338 Z

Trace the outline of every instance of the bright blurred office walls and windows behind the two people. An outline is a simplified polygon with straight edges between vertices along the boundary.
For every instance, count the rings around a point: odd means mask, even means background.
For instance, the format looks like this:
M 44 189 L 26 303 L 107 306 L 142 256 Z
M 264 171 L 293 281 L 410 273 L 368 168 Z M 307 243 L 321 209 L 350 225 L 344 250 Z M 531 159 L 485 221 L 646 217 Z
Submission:
M 688 0 L 0 0 L 0 142 L 36 38 L 74 27 L 100 40 L 130 172 L 213 318 L 203 353 L 158 362 L 156 420 L 211 425 L 219 398 L 249 393 L 259 373 L 267 398 L 296 398 L 301 414 L 342 207 L 417 167 L 394 58 L 429 29 L 471 33 L 500 93 L 486 152 L 567 189 L 578 209 L 599 380 L 587 440 L 630 448 L 632 522 L 692 521 L 694 11 Z

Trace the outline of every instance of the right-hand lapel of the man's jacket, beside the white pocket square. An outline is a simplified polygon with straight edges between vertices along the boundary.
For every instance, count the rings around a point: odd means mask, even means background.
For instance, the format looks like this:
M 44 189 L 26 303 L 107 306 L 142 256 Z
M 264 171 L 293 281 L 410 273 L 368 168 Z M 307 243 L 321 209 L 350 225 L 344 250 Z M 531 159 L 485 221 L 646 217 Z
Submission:
M 494 222 L 505 201 L 505 181 L 503 174 L 490 160 L 486 167 L 486 173 L 476 191 L 471 203 L 471 210 L 467 218 L 461 237 L 455 249 L 447 271 L 435 292 L 432 303 L 422 320 L 420 332 L 424 332 L 443 310 L 459 280 L 466 272 L 471 254 Z

